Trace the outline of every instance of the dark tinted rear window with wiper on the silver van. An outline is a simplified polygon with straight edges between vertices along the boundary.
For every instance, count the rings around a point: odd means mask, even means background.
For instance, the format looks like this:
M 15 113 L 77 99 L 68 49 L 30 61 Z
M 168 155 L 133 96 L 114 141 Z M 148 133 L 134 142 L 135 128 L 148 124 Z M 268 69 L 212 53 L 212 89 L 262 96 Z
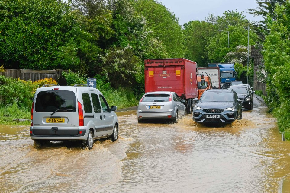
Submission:
M 37 94 L 35 100 L 36 112 L 54 112 L 57 109 L 63 109 L 57 112 L 75 112 L 75 93 L 69 90 L 47 90 Z

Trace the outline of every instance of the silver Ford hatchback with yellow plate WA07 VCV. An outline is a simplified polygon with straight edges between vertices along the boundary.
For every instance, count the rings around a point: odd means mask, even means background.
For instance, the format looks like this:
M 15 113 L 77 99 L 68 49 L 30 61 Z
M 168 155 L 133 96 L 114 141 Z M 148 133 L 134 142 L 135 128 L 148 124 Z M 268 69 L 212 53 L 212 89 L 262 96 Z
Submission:
M 185 100 L 175 92 L 149 92 L 140 100 L 137 110 L 138 122 L 145 119 L 170 119 L 176 121 L 185 115 Z

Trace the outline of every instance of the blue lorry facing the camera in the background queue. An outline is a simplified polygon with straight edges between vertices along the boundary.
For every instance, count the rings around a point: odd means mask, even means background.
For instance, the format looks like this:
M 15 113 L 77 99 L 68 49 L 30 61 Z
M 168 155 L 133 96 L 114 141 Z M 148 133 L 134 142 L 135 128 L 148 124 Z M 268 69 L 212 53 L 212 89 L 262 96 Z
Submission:
M 220 88 L 228 89 L 232 81 L 236 80 L 234 63 L 208 63 L 208 67 L 220 68 Z

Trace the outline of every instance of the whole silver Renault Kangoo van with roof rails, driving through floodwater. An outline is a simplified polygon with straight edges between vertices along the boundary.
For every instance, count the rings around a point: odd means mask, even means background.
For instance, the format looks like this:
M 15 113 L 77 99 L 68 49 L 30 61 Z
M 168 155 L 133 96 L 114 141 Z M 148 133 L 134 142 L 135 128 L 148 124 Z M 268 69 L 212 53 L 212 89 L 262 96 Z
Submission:
M 115 110 L 98 89 L 87 84 L 43 85 L 34 95 L 30 137 L 38 146 L 45 141 L 81 140 L 91 149 L 95 139 L 117 140 Z

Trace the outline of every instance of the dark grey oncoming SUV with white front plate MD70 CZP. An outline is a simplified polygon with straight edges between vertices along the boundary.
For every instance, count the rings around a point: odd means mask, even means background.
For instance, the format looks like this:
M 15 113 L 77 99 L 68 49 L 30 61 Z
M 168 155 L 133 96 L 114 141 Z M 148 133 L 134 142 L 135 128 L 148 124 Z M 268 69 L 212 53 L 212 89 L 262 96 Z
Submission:
M 242 119 L 241 102 L 234 90 L 206 90 L 193 108 L 193 119 L 196 122 L 231 123 Z

